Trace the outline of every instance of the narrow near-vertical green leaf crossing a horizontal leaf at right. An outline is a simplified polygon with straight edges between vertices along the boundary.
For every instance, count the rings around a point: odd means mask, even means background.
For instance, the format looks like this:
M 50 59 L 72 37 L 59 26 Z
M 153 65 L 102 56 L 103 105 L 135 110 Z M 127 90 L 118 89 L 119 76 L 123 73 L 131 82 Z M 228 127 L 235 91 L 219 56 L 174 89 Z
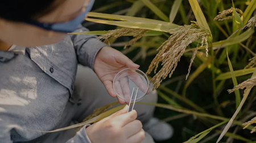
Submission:
M 234 84 L 234 86 L 237 86 L 238 85 L 237 84 L 237 78 L 236 78 L 236 75 L 234 74 L 232 63 L 229 60 L 228 49 L 226 49 L 226 56 L 228 58 L 229 70 L 230 70 L 230 73 L 231 73 L 231 76 L 232 76 L 233 84 Z M 241 95 L 240 95 L 239 90 L 236 90 L 235 94 L 236 94 L 236 109 L 237 109 L 239 104 L 240 104 L 240 102 L 241 102 Z

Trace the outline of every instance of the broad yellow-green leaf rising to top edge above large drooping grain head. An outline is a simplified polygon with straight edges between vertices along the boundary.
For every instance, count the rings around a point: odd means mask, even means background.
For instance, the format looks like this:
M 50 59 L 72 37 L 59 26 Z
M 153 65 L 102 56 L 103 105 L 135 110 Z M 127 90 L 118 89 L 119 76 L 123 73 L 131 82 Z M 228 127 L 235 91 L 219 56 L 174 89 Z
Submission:
M 208 29 L 208 31 L 210 32 L 210 27 L 207 23 L 207 20 L 205 19 L 205 16 L 203 14 L 203 11 L 201 10 L 199 3 L 197 2 L 197 0 L 188 0 L 191 8 L 193 10 L 193 13 L 196 17 L 196 21 L 199 25 L 201 25 L 202 27 L 204 27 L 205 29 Z

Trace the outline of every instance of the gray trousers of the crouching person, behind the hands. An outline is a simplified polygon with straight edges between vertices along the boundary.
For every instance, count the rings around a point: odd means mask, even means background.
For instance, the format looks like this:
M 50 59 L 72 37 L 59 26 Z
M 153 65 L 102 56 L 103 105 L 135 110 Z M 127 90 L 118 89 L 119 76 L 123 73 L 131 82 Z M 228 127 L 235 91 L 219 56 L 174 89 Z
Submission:
M 150 89 L 152 89 L 152 87 Z M 113 98 L 108 94 L 105 86 L 90 68 L 79 66 L 77 69 L 73 100 L 79 103 L 68 103 L 65 112 L 69 112 L 71 117 L 63 117 L 65 119 L 62 122 L 61 127 L 74 124 L 74 122 L 71 122 L 72 120 L 75 120 L 75 123 L 82 122 L 83 119 L 92 114 L 94 109 L 102 107 L 108 103 L 115 102 L 117 101 L 117 98 Z M 156 91 L 150 90 L 150 93 L 144 97 L 141 102 L 155 103 L 156 101 Z M 152 118 L 155 107 L 135 104 L 134 109 L 138 112 L 138 120 L 141 120 L 142 124 L 145 124 L 150 118 Z M 51 141 L 63 143 L 73 136 L 75 136 L 75 129 L 69 129 L 67 131 L 53 133 L 45 142 Z M 154 140 L 148 133 L 146 133 L 143 143 L 151 142 L 154 142 Z

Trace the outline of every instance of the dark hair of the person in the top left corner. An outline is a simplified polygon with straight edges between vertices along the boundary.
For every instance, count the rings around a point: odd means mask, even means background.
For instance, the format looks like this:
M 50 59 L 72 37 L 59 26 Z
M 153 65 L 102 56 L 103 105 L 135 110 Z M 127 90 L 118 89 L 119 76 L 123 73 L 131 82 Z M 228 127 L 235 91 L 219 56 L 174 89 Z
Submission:
M 0 0 L 0 18 L 10 21 L 35 20 L 49 14 L 64 0 Z

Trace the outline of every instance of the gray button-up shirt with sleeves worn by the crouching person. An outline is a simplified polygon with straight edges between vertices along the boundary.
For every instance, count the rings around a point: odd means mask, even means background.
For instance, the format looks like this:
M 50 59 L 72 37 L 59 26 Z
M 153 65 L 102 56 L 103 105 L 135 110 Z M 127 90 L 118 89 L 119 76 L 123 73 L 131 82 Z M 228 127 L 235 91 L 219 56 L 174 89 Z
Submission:
M 59 128 L 69 115 L 64 109 L 72 102 L 77 64 L 93 69 L 104 46 L 96 36 L 69 35 L 53 45 L 0 51 L 0 142 L 33 142 L 45 133 L 29 129 Z M 90 141 L 82 128 L 68 142 Z

